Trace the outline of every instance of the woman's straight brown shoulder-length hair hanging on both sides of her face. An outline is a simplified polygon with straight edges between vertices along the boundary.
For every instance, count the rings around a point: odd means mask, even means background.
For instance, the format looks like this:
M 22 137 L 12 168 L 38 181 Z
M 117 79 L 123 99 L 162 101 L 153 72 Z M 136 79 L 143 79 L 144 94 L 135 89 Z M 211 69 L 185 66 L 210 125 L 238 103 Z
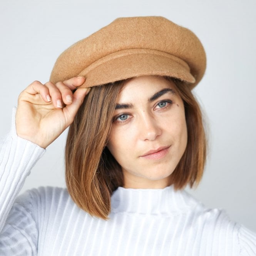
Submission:
M 201 181 L 206 161 L 206 137 L 199 104 L 189 84 L 171 77 L 184 102 L 187 147 L 171 174 L 174 189 L 192 188 Z M 127 80 L 92 87 L 74 122 L 65 148 L 67 189 L 74 202 L 92 216 L 108 219 L 110 197 L 123 186 L 120 165 L 107 149 L 113 113 L 119 92 Z

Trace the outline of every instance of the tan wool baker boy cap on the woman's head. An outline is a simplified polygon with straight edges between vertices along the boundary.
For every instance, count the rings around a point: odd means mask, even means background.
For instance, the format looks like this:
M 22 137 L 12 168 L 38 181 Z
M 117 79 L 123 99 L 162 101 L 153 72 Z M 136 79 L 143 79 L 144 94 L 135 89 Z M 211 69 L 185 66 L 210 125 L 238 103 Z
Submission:
M 65 50 L 50 81 L 84 76 L 81 87 L 141 75 L 170 76 L 196 86 L 206 54 L 196 35 L 164 17 L 117 18 Z

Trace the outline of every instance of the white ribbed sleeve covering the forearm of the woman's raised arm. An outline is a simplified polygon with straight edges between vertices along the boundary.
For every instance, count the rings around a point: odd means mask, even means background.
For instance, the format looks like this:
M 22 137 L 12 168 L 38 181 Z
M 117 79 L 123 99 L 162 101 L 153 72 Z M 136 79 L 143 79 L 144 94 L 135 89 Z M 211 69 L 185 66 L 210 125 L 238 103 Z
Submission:
M 0 230 L 30 170 L 45 149 L 17 136 L 15 110 L 12 131 L 0 141 Z

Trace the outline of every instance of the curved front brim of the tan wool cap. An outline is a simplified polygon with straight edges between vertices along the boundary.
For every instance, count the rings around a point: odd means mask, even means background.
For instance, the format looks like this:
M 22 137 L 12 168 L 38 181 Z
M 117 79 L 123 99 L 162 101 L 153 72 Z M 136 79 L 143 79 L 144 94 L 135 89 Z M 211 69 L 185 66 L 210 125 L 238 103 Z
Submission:
M 196 85 L 189 66 L 174 55 L 150 49 L 128 49 L 109 54 L 82 70 L 80 87 L 93 87 L 142 75 L 174 77 Z

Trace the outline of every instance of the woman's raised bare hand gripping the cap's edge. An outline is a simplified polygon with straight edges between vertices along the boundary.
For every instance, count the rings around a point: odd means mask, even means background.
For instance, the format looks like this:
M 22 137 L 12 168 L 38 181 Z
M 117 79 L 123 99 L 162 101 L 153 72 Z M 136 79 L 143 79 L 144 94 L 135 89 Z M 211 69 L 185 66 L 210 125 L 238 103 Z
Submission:
M 89 88 L 79 88 L 84 77 L 64 82 L 30 84 L 18 97 L 16 131 L 19 137 L 46 148 L 74 120 Z M 64 105 L 65 104 L 65 105 Z

